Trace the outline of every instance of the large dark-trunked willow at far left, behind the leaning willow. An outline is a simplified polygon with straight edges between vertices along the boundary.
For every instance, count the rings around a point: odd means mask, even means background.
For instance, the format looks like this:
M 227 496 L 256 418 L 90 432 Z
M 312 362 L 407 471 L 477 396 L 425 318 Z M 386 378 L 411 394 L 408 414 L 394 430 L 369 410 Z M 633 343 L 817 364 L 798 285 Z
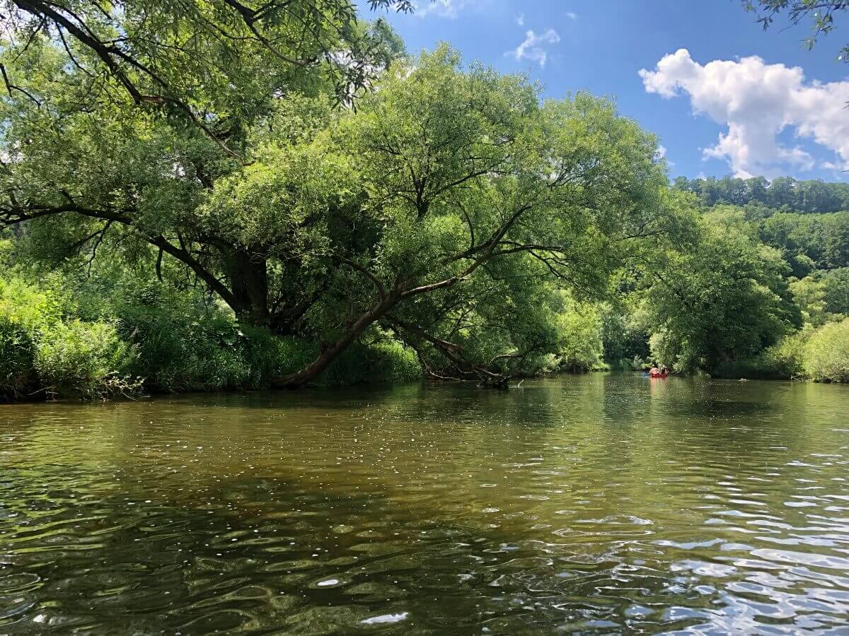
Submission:
M 31 224 L 58 258 L 143 240 L 157 269 L 176 259 L 239 315 L 284 331 L 308 294 L 278 285 L 290 272 L 270 272 L 256 246 L 198 226 L 195 209 L 250 164 L 258 127 L 309 135 L 368 88 L 401 50 L 388 26 L 359 22 L 347 0 L 2 4 L 3 220 L 76 215 Z M 304 95 L 323 103 L 288 104 Z

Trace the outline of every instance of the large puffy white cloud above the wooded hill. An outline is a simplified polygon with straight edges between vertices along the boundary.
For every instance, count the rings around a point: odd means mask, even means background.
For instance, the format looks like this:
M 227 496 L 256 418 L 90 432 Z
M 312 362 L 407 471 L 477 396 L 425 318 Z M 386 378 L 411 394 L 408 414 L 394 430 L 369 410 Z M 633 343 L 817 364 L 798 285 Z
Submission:
M 849 81 L 805 81 L 799 67 L 766 64 L 761 58 L 694 62 L 689 51 L 665 55 L 655 70 L 640 70 L 646 92 L 662 98 L 687 93 L 694 113 L 728 126 L 706 158 L 725 159 L 737 176 L 812 170 L 810 153 L 784 146 L 779 134 L 790 128 L 835 153 L 849 169 Z

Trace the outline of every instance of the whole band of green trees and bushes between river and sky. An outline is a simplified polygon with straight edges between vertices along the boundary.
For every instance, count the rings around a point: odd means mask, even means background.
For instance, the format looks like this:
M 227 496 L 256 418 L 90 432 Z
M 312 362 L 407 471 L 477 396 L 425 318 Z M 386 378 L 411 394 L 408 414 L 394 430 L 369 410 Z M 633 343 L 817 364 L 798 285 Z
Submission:
M 0 399 L 849 382 L 846 183 L 670 183 L 609 99 L 338 0 L 40 7 L 0 45 Z

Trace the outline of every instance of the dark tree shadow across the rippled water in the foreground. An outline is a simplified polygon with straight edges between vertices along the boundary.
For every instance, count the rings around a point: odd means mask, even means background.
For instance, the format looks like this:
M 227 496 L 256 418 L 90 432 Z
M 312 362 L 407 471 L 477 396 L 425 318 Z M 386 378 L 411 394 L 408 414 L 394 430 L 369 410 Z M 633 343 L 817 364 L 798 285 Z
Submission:
M 626 560 L 610 546 L 563 550 L 498 527 L 430 522 L 373 494 L 334 498 L 250 479 L 158 502 L 141 499 L 149 492 L 133 480 L 121 494 L 76 501 L 83 478 L 66 475 L 66 488 L 10 510 L 17 521 L 0 590 L 19 602 L 4 607 L 4 630 L 339 633 L 403 617 L 405 633 L 554 624 L 593 632 L 636 600 L 700 596 L 652 567 L 633 594 L 611 594 L 627 570 L 617 572 Z M 258 508 L 250 503 L 257 492 L 300 507 Z M 696 622 L 633 616 L 628 624 Z

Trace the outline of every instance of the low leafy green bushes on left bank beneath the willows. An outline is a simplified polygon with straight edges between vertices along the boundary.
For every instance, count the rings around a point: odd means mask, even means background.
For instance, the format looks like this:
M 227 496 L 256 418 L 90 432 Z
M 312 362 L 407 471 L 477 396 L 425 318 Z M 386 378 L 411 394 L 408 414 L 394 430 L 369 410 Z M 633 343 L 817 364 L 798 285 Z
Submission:
M 318 346 L 240 325 L 215 304 L 146 290 L 86 315 L 59 293 L 0 281 L 0 400 L 134 398 L 143 393 L 267 388 Z M 73 315 L 70 310 L 76 309 Z M 99 313 L 103 314 L 103 311 Z M 420 376 L 398 343 L 357 343 L 319 384 L 405 382 Z

